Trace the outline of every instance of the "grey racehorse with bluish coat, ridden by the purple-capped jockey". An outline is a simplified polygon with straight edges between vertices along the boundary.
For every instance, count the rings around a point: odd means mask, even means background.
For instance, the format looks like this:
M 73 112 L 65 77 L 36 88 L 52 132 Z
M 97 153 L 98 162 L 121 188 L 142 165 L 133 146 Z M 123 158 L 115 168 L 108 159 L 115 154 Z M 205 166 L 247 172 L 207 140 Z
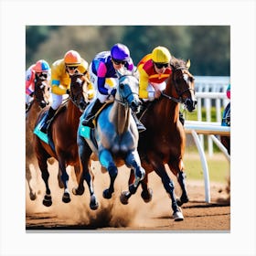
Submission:
M 118 167 L 126 165 L 132 168 L 134 181 L 130 189 L 138 186 L 144 178 L 144 169 L 137 152 L 139 134 L 132 112 L 136 112 L 141 101 L 138 96 L 138 80 L 133 72 L 118 73 L 114 101 L 106 105 L 96 119 L 94 130 L 80 124 L 78 145 L 83 178 L 86 180 L 90 194 L 90 208 L 97 209 L 99 204 L 94 194 L 89 161 L 92 152 L 99 159 L 101 166 L 110 176 L 110 186 L 103 191 L 104 198 L 111 198 Z M 90 107 L 86 110 L 90 111 Z M 85 112 L 85 114 L 86 114 Z M 83 179 L 80 181 L 83 187 Z

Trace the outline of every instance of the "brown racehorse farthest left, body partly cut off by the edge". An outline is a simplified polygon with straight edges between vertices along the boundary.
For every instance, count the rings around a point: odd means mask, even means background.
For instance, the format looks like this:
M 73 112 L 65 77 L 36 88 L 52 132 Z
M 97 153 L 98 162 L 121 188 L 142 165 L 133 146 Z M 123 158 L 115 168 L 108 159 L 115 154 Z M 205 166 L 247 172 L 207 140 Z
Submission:
M 45 108 L 49 103 L 49 86 L 45 78 L 36 78 L 35 91 L 33 93 L 33 101 L 29 104 L 26 111 L 26 179 L 29 188 L 29 197 L 31 200 L 37 198 L 36 192 L 31 187 L 31 170 L 30 164 L 36 160 L 33 147 L 33 131 L 37 121 L 37 115 L 41 109 Z

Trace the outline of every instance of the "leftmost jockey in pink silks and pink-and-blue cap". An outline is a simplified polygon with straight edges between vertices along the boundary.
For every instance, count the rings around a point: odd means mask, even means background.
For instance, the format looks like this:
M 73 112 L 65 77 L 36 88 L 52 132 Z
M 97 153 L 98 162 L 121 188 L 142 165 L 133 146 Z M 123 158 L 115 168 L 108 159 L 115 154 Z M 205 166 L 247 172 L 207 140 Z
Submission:
M 50 68 L 48 62 L 44 59 L 39 59 L 31 65 L 26 71 L 26 109 L 31 101 L 35 91 L 35 81 L 37 78 L 50 80 Z

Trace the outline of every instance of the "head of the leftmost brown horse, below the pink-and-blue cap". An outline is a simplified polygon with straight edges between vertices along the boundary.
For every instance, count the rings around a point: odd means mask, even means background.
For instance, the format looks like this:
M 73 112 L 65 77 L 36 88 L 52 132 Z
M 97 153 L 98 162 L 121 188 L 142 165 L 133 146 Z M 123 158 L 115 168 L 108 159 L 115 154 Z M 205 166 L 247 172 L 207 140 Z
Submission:
M 35 81 L 34 101 L 43 109 L 49 103 L 49 86 L 46 78 L 37 77 Z

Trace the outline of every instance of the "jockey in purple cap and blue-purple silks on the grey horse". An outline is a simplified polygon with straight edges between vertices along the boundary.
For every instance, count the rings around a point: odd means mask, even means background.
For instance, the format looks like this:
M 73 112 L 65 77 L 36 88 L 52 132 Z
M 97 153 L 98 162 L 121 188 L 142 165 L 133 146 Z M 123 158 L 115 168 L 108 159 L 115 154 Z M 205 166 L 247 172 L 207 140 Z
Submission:
M 123 44 L 115 44 L 111 51 L 102 51 L 95 56 L 89 70 L 91 81 L 97 88 L 97 99 L 92 102 L 91 112 L 88 112 L 84 117 L 81 122 L 82 125 L 94 128 L 92 121 L 95 115 L 110 96 L 115 96 L 115 86 L 118 82 L 116 70 L 123 68 L 133 70 L 133 67 L 130 50 Z M 144 131 L 144 125 L 139 122 L 134 113 L 133 118 L 137 124 L 138 131 Z

